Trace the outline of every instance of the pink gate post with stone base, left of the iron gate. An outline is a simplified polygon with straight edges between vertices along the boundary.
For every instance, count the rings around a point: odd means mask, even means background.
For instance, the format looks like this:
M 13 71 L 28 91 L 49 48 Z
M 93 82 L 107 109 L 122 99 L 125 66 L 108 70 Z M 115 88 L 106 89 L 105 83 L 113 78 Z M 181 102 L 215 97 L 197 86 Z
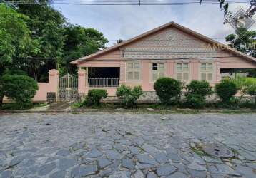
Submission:
M 55 100 L 58 94 L 59 86 L 59 71 L 56 69 L 49 70 L 49 83 L 48 83 L 48 93 L 47 100 Z

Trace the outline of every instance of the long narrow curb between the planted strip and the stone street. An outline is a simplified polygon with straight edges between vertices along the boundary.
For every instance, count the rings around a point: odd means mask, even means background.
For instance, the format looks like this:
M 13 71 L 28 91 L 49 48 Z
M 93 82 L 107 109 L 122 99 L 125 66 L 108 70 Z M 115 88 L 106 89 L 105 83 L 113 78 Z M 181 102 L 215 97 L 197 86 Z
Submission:
M 241 114 L 256 113 L 256 110 L 0 110 L 0 113 L 148 113 L 148 114 L 200 114 L 200 113 L 222 113 Z

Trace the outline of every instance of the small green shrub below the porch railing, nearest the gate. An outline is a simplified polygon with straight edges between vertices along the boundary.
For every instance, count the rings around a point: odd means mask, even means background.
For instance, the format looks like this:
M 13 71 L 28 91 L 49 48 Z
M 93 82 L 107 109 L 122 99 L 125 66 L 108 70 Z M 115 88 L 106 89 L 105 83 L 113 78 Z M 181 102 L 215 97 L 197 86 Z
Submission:
M 88 106 L 99 105 L 102 98 L 107 98 L 107 90 L 92 89 L 89 90 L 87 97 L 85 98 L 83 103 Z

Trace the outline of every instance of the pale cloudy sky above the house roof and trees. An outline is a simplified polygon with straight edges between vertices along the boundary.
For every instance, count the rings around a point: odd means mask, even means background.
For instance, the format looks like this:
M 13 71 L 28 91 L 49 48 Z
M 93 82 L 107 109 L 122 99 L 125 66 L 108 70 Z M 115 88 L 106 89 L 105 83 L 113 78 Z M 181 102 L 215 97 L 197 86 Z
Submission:
M 216 0 L 217 1 L 217 0 Z M 236 12 L 249 4 L 230 4 Z M 230 24 L 223 24 L 223 11 L 218 4 L 185 6 L 79 6 L 54 5 L 69 23 L 96 28 L 112 46 L 117 39 L 128 40 L 141 33 L 174 21 L 202 35 L 225 43 L 224 37 L 234 33 Z M 235 14 L 235 13 L 234 13 Z M 256 21 L 256 19 L 255 19 Z M 250 28 L 256 30 L 256 23 Z

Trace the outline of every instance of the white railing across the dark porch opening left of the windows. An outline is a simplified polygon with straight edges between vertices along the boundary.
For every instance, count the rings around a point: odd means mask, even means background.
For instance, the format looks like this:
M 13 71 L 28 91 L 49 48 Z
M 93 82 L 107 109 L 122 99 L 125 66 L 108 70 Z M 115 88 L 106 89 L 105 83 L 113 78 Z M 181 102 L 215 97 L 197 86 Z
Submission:
M 88 78 L 89 87 L 118 87 L 119 78 Z

